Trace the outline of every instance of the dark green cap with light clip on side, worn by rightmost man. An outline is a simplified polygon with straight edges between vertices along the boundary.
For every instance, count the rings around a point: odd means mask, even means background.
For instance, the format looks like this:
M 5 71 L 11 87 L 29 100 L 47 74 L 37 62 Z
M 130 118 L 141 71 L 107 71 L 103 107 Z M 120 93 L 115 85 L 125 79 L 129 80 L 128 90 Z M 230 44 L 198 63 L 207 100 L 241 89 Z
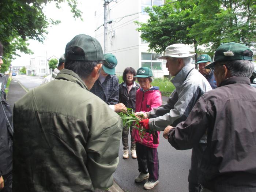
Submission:
M 233 61 L 233 60 L 249 60 L 252 61 L 252 56 L 245 56 L 248 53 L 245 53 L 245 50 L 252 52 L 250 48 L 245 45 L 230 42 L 225 43 L 219 46 L 214 55 L 214 62 L 210 65 L 207 65 L 205 68 L 210 69 L 214 67 L 217 61 Z

